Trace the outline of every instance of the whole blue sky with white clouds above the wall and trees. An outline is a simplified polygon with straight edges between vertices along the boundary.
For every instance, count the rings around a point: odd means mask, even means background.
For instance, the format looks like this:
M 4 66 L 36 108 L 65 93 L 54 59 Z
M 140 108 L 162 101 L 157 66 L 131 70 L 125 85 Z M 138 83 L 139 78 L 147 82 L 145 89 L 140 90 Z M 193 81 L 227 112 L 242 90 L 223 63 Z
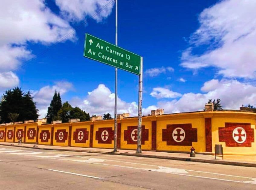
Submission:
M 7 73 L 1 91 L 17 85 L 30 89 L 41 117 L 55 89 L 63 102 L 90 114 L 113 114 L 114 67 L 83 57 L 85 33 L 115 43 L 113 3 L 89 19 L 109 2 L 5 2 L 1 9 L 19 9 L 16 15 L 8 10 L 0 14 L 8 23 L 0 38 L 0 57 L 4 51 L 9 56 L 0 61 L 0 72 Z M 221 98 L 227 109 L 255 104 L 255 5 L 238 0 L 119 0 L 118 46 L 144 58 L 144 114 L 156 108 L 165 113 L 200 110 L 208 98 Z M 136 115 L 137 75 L 118 70 L 118 98 L 118 113 Z

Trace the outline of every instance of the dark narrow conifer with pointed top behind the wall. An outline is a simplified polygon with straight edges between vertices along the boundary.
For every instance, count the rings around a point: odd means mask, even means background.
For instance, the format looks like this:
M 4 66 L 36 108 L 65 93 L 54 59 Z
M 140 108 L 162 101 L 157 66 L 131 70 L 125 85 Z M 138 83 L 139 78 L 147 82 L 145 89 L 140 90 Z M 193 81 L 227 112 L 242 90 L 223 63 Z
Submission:
M 62 107 L 62 102 L 61 102 L 61 98 L 60 98 L 60 94 L 55 90 L 55 93 L 53 95 L 53 99 L 51 101 L 50 106 L 48 107 L 48 112 L 47 112 L 47 122 L 51 123 L 53 120 L 54 116 L 57 116 L 58 111 L 61 109 Z

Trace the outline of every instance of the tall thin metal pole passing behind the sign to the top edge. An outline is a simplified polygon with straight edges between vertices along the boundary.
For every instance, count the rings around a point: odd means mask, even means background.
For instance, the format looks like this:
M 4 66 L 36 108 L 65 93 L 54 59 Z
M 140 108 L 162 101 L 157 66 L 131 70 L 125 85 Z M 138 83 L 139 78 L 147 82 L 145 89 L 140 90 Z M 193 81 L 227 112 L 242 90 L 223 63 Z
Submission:
M 117 46 L 117 0 L 116 0 L 116 46 Z M 114 135 L 114 150 L 117 152 L 117 68 L 115 68 L 115 135 Z

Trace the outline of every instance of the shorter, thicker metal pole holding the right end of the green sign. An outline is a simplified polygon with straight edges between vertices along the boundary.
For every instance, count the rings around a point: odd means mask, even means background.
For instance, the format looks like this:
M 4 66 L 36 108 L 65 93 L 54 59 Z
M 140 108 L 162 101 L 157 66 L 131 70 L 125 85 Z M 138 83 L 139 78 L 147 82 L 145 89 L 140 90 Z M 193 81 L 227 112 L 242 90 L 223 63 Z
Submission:
M 139 103 L 138 103 L 138 132 L 137 132 L 137 150 L 136 153 L 141 151 L 141 122 L 142 122 L 142 80 L 143 80 L 143 57 L 140 61 L 140 74 L 139 74 Z

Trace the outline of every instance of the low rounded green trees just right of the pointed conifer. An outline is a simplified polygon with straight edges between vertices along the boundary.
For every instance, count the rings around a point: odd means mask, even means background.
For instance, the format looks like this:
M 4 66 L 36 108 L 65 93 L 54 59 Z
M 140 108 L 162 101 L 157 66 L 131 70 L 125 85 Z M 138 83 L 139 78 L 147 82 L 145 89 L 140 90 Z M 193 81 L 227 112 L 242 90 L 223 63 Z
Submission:
M 79 107 L 73 108 L 68 102 L 65 102 L 61 109 L 58 111 L 58 116 L 61 118 L 62 122 L 68 122 L 69 119 L 80 119 L 80 121 L 89 121 L 90 115 L 85 111 L 81 110 Z

